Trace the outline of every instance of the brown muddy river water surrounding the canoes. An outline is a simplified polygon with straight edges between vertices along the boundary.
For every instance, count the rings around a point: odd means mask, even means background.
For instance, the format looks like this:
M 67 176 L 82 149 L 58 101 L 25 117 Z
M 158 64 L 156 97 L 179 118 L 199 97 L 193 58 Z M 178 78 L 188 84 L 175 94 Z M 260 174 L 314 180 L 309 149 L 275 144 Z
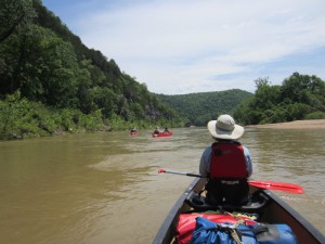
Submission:
M 247 129 L 256 180 L 300 184 L 275 192 L 325 232 L 325 130 Z M 1 244 L 151 243 L 212 142 L 205 128 L 101 132 L 0 142 Z

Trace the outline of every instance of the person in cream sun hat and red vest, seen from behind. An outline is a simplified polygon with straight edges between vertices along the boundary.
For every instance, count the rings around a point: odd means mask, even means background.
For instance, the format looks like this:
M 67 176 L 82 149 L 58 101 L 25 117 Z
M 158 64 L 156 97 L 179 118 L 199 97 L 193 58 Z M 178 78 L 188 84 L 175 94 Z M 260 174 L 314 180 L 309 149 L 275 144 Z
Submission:
M 208 178 L 206 200 L 218 205 L 244 204 L 248 200 L 247 178 L 252 174 L 249 151 L 237 141 L 244 127 L 227 114 L 207 127 L 214 142 L 205 149 L 199 162 L 199 174 Z

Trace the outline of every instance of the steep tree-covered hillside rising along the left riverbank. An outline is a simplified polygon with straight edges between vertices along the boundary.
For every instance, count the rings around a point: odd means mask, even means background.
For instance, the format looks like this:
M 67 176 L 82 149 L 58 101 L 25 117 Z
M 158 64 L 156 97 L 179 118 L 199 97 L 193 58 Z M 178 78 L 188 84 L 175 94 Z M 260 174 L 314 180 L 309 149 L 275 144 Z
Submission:
M 183 125 L 41 0 L 0 0 L 0 138 Z

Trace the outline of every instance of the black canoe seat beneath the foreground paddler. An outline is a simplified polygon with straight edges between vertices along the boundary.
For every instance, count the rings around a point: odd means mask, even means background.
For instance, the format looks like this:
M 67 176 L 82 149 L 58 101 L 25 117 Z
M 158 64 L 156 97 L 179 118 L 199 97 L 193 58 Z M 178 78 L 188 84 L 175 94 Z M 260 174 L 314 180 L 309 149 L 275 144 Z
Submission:
M 244 205 L 212 205 L 207 203 L 206 197 L 192 191 L 185 202 L 195 210 L 226 210 L 226 211 L 245 211 L 245 213 L 259 213 L 264 208 L 269 198 L 262 191 L 255 192 Z

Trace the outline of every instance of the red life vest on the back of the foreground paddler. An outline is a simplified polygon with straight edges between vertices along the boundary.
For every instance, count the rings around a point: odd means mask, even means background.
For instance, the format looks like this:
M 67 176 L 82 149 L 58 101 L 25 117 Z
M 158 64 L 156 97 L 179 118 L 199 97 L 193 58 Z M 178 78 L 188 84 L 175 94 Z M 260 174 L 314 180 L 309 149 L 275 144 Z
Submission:
M 244 147 L 238 142 L 213 143 L 210 178 L 247 178 Z

